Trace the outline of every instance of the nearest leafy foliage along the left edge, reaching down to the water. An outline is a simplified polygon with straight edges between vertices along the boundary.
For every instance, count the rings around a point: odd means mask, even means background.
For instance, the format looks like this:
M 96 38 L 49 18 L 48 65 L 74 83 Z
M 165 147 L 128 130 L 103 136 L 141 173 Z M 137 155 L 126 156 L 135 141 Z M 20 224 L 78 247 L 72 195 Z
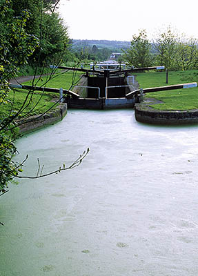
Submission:
M 12 102 L 8 101 L 8 79 L 17 73 L 18 66 L 27 62 L 28 57 L 37 48 L 37 39 L 26 32 L 26 21 L 29 12 L 23 10 L 20 17 L 13 17 L 12 1 L 1 2 L 0 7 L 0 195 L 6 193 L 8 182 L 21 171 L 21 166 L 12 161 L 17 152 L 13 140 L 17 130 L 10 131 L 19 115 L 12 110 Z M 3 106 L 10 104 L 10 112 L 3 112 Z

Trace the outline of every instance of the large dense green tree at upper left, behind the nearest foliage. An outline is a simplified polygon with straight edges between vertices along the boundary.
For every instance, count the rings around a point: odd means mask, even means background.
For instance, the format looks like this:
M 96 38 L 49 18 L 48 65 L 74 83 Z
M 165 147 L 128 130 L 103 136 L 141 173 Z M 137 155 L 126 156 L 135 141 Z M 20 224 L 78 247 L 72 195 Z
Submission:
M 23 22 L 23 30 L 32 39 L 37 39 L 38 48 L 31 55 L 28 62 L 34 65 L 35 61 L 39 66 L 43 66 L 43 61 L 50 59 L 57 60 L 60 53 L 68 46 L 68 28 L 59 17 L 56 8 L 59 1 L 43 1 L 43 0 L 3 0 L 9 3 L 9 17 L 6 14 L 6 20 L 10 18 L 10 25 L 12 22 L 18 21 L 21 23 L 21 17 L 24 18 L 26 13 L 26 22 Z M 8 12 L 7 12 L 8 13 Z M 25 20 L 25 19 L 24 19 Z M 17 26 L 17 31 L 20 28 Z M 1 31 L 0 31 L 1 32 Z M 15 30 L 12 30 L 14 33 Z M 8 31 L 10 34 L 10 31 Z M 9 35 L 7 36 L 9 37 Z M 32 42 L 30 43 L 32 44 Z M 16 45 L 13 45 L 18 49 Z M 13 48 L 12 46 L 12 48 Z M 10 51 L 13 52 L 13 51 Z M 22 55 L 25 56 L 26 55 Z M 18 59 L 18 55 L 15 55 Z

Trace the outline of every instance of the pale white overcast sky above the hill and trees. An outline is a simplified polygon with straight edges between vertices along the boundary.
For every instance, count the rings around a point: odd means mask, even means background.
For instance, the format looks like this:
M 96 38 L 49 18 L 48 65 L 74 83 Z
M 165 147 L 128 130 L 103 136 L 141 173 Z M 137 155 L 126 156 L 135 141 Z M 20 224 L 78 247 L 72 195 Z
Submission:
M 130 41 L 146 29 L 154 38 L 168 25 L 198 39 L 197 0 L 61 0 L 71 39 Z

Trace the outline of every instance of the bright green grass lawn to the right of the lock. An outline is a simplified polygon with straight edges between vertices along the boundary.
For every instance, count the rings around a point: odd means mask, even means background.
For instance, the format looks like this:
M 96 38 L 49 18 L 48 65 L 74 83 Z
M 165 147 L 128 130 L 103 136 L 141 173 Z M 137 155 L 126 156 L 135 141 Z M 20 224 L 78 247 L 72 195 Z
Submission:
M 198 82 L 198 70 L 169 72 L 168 84 L 166 84 L 166 72 L 141 72 L 135 75 L 140 88 Z M 163 102 L 150 105 L 157 110 L 198 109 L 198 88 L 152 92 L 148 93 L 146 97 Z

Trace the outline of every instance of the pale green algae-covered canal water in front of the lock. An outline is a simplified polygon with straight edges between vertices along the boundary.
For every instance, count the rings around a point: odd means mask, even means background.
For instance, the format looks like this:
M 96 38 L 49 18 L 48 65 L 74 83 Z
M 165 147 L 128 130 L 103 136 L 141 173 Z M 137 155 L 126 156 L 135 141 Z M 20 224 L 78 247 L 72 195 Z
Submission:
M 139 124 L 133 110 L 69 110 L 17 141 L 22 179 L 1 197 L 1 276 L 198 275 L 198 126 Z

